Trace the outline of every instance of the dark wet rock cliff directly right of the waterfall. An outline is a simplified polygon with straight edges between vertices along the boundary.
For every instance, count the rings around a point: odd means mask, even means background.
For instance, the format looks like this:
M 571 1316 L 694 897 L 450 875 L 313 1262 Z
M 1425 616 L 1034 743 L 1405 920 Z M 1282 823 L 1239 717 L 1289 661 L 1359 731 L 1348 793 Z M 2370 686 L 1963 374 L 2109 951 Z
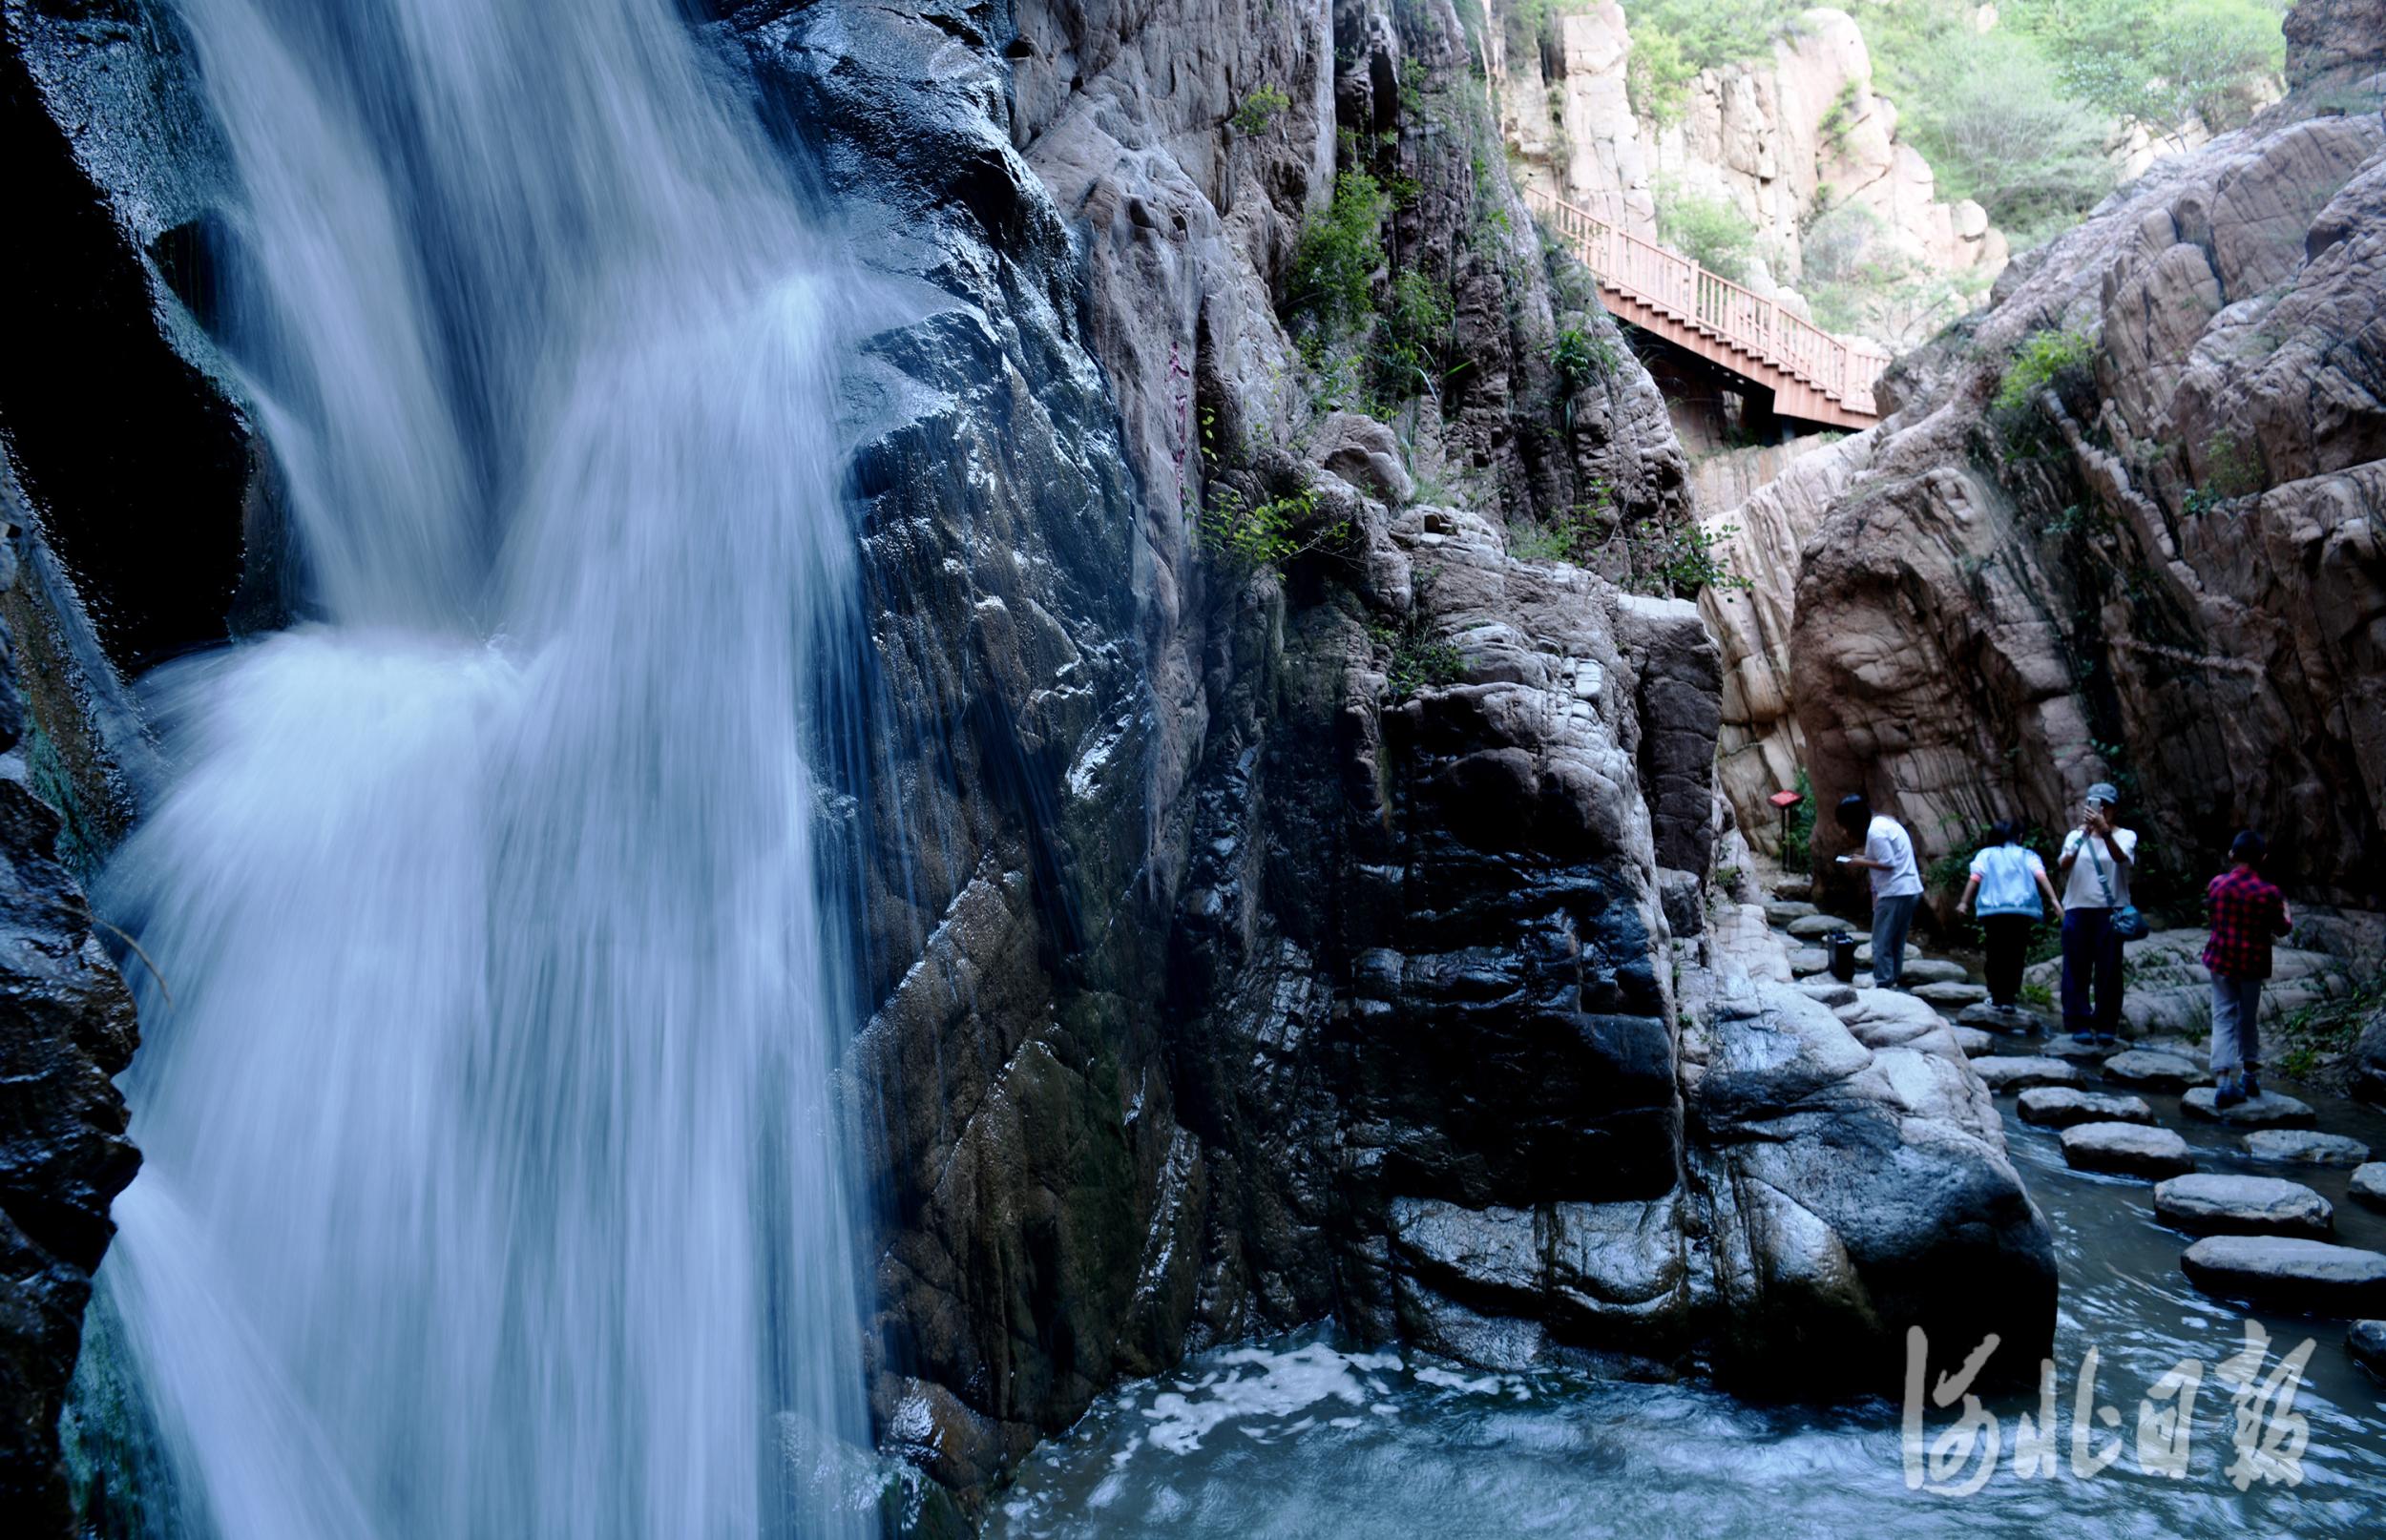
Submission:
M 36 64 L 172 57 L 119 10 Z M 1701 939 L 1696 608 L 1508 553 L 1594 486 L 1618 544 L 1689 496 L 1446 0 L 711 10 L 876 308 L 842 393 L 871 667 L 821 760 L 890 1447 L 978 1495 L 1117 1378 L 1324 1314 L 1813 1387 L 1890 1383 L 1949 1302 L 2045 1337 L 2045 1228 L 1961 1056 Z M 1360 145 L 1467 360 L 1398 431 L 1312 400 L 1274 305 Z M 141 176 L 69 169 L 143 229 Z M 1560 329 L 1615 365 L 1560 374 Z M 200 513 L 253 582 L 248 486 Z M 1305 553 L 1198 539 L 1293 489 Z

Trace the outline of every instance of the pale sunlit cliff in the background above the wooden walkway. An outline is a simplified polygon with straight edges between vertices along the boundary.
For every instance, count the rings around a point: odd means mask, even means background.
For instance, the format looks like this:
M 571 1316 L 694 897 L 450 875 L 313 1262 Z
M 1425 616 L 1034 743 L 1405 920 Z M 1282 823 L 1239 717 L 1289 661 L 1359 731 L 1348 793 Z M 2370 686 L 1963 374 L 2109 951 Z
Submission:
M 1541 43 L 1513 5 L 1503 21 L 1501 112 L 1527 179 L 1546 191 L 1656 234 L 1658 193 L 1735 205 L 1768 253 L 1754 286 L 1794 288 L 1821 215 L 1856 210 L 1861 248 L 1947 274 L 1985 293 L 2007 260 L 2004 236 L 1978 203 L 1937 198 L 1937 179 L 1897 138 L 1897 107 L 1873 93 L 1873 64 L 1856 19 L 1811 10 L 1768 60 L 1701 72 L 1680 122 L 1642 122 L 1625 98 L 1632 36 L 1613 0 L 1549 17 Z M 1852 257 L 1842 257 L 1852 260 Z

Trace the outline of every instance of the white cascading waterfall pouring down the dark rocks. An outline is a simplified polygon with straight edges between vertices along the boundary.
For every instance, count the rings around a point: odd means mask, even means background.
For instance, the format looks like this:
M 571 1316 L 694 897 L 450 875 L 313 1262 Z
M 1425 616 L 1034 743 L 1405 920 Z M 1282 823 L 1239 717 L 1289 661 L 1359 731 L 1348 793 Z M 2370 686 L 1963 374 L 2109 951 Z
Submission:
M 797 203 L 673 0 L 179 10 L 320 620 L 153 679 L 103 884 L 157 970 L 103 1285 L 167 1528 L 849 1528 L 785 1471 L 861 1437 Z

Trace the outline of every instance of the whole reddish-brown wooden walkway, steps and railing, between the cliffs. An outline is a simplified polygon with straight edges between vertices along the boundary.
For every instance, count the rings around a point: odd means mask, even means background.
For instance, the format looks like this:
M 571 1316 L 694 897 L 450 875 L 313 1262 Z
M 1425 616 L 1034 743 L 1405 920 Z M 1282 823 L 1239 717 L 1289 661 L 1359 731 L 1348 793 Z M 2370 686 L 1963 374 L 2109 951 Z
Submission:
M 1770 391 L 1780 417 L 1844 429 L 1880 422 L 1873 381 L 1890 367 L 1887 353 L 1832 336 L 1572 203 L 1539 191 L 1527 191 L 1525 203 L 1591 269 L 1615 319 Z

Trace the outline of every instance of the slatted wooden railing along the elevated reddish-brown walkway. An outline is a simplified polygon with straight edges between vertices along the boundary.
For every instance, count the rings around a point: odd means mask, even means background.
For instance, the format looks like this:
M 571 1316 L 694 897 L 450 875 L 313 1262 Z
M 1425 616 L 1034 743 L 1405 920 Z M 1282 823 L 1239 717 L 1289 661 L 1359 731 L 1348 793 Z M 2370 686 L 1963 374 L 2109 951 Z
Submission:
M 1634 236 L 1563 198 L 1527 188 L 1525 203 L 1601 281 L 1685 327 L 1720 336 L 1766 360 L 1849 412 L 1875 415 L 1873 381 L 1890 367 L 1885 353 L 1832 336 L 1778 300 L 1742 288 L 1682 253 Z

